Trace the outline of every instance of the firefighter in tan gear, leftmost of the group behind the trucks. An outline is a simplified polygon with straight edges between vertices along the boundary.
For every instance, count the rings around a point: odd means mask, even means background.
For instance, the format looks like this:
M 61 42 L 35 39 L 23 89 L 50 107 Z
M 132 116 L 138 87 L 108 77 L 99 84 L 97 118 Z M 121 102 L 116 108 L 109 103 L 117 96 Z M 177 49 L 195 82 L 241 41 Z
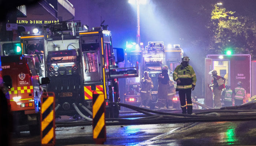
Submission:
M 141 84 L 140 95 L 142 98 L 142 103 L 140 107 L 149 108 L 149 103 L 152 100 L 151 89 L 154 88 L 154 85 L 151 78 L 148 76 L 147 71 L 145 71 L 143 75 L 144 77 L 140 81 L 140 84 Z

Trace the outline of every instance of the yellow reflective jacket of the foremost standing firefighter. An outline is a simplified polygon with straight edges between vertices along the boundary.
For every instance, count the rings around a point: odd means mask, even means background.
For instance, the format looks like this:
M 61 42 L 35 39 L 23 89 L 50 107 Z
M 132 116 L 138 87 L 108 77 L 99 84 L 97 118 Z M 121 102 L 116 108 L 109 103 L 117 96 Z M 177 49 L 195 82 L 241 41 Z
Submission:
M 181 83 L 177 83 L 176 91 L 181 89 L 189 89 L 196 86 L 196 73 L 192 66 L 188 65 L 184 68 L 182 65 L 178 65 L 173 72 L 173 80 L 180 80 Z

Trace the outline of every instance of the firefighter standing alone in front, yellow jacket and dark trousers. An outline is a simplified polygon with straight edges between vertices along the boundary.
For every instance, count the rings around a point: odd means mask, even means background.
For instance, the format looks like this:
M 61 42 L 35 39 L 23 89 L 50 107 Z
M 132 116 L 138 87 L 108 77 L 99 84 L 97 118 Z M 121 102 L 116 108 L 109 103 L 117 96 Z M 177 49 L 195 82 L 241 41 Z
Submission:
M 192 66 L 188 65 L 189 60 L 189 57 L 183 57 L 181 65 L 178 65 L 173 72 L 173 79 L 177 82 L 176 91 L 179 92 L 182 114 L 187 114 L 187 109 L 188 114 L 192 114 L 191 89 L 194 90 L 196 86 L 196 73 Z

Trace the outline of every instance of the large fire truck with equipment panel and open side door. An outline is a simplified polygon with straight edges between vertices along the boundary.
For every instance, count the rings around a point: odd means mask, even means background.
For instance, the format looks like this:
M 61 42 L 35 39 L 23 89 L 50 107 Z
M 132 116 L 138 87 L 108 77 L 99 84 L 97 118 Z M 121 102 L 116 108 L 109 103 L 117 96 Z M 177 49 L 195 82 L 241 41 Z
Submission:
M 56 115 L 73 116 L 77 105 L 91 109 L 96 91 L 105 95 L 106 115 L 118 117 L 120 107 L 108 102 L 120 101 L 118 78 L 138 77 L 138 64 L 118 68 L 124 51 L 113 48 L 111 32 L 103 27 L 82 28 L 80 22 L 49 24 L 41 34 L 23 35 L 22 49 L 34 55 L 40 75 L 50 78 L 47 91 L 56 95 Z

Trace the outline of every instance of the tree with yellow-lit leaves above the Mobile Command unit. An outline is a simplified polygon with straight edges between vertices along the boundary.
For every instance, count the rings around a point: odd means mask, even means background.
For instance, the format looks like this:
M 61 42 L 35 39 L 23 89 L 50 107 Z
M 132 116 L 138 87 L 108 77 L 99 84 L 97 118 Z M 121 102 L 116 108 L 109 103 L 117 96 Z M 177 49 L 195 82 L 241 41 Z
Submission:
M 210 29 L 207 54 L 225 54 L 232 50 L 233 54 L 251 54 L 252 59 L 256 59 L 256 23 L 252 18 L 214 5 L 207 28 Z

